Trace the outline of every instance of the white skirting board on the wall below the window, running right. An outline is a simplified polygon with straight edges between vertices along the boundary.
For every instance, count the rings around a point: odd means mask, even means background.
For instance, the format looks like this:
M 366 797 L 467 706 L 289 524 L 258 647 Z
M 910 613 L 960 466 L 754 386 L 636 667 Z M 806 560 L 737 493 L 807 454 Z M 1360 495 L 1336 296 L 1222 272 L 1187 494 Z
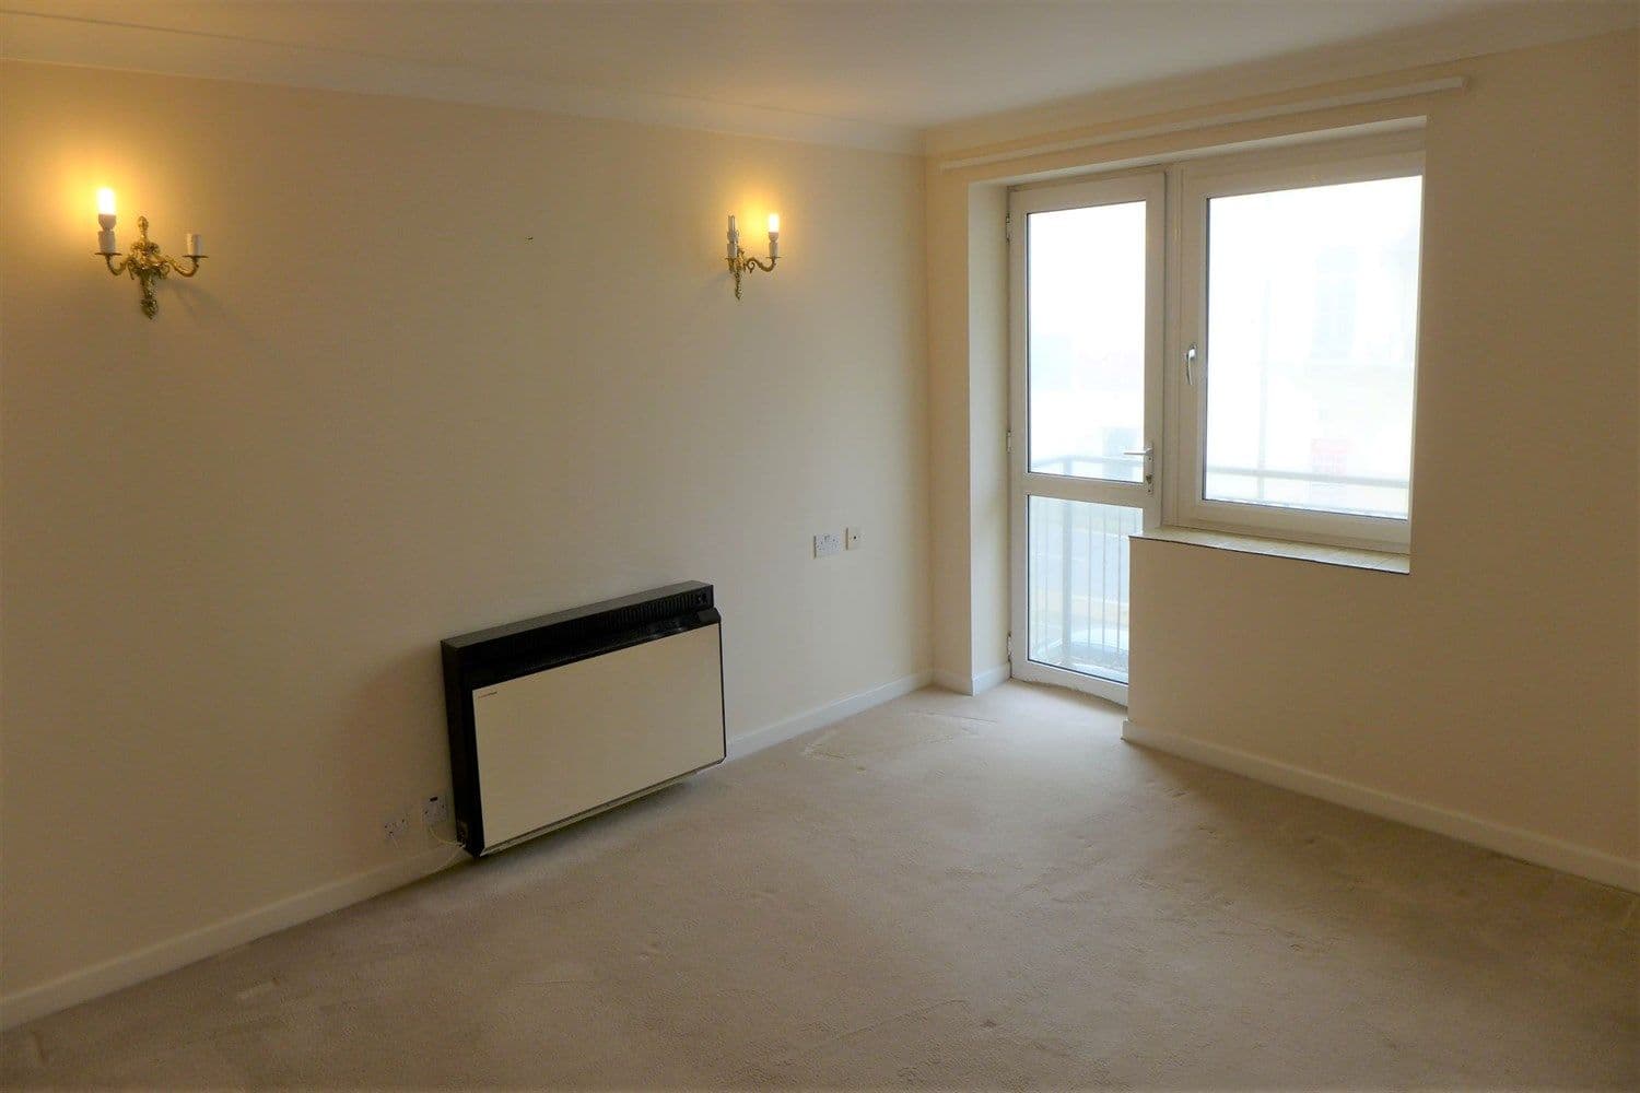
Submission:
M 1245 775 L 1256 782 L 1279 785 L 1284 790 L 1319 796 L 1333 805 L 1356 808 L 1363 813 L 1384 816 L 1414 828 L 1424 828 L 1437 834 L 1450 836 L 1461 842 L 1497 850 L 1509 857 L 1517 857 L 1535 865 L 1547 865 L 1578 877 L 1597 880 L 1602 885 L 1640 891 L 1640 862 L 1630 862 L 1592 850 L 1589 847 L 1563 842 L 1550 836 L 1542 836 L 1520 828 L 1496 824 L 1489 819 L 1456 813 L 1437 805 L 1425 805 L 1405 796 L 1396 796 L 1384 790 L 1345 782 L 1332 775 L 1317 773 L 1302 767 L 1292 767 L 1274 759 L 1264 759 L 1237 747 L 1209 744 L 1178 732 L 1148 729 L 1132 721 L 1122 723 L 1122 739 L 1143 747 L 1155 747 L 1159 752 L 1191 759 L 1207 767 L 1217 767 L 1232 773 Z

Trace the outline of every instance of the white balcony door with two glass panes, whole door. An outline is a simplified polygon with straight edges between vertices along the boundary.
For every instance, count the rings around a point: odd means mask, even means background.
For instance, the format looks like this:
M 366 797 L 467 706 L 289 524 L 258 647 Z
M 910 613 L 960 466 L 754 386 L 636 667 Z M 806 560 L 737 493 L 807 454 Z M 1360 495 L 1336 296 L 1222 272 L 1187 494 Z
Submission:
M 1161 172 L 1015 190 L 1015 678 L 1127 703 L 1128 536 L 1159 519 Z

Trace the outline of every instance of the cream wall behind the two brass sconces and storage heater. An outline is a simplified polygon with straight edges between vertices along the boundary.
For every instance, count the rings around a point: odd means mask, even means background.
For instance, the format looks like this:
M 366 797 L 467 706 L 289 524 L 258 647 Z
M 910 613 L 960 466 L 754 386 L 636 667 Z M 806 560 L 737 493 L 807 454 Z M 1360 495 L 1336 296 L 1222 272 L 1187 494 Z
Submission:
M 441 637 L 713 582 L 731 737 L 928 669 L 918 161 L 0 79 L 5 995 L 425 850 Z M 207 238 L 153 321 L 98 185 Z

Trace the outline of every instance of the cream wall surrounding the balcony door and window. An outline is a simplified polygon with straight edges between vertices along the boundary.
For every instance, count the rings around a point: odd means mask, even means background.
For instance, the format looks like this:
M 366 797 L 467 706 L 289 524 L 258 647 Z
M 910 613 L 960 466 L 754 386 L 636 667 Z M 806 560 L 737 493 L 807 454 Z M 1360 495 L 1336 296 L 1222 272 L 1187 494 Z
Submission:
M 992 126 L 997 144 L 932 161 L 932 518 L 935 542 L 964 551 L 963 565 L 935 569 L 936 670 L 961 673 L 1002 637 L 987 588 L 1005 580 L 1007 528 L 969 498 L 1002 465 L 1000 446 L 971 429 L 994 418 L 994 383 L 973 369 L 1005 298 L 976 292 L 992 274 L 961 246 L 969 210 L 1012 180 L 1425 115 L 1412 574 L 1138 544 L 1130 714 L 1200 757 L 1307 772 L 1312 788 L 1343 783 L 1356 803 L 1394 800 L 1512 852 L 1640 883 L 1635 61 L 1630 31 L 1281 95 L 1253 74 L 1219 105 L 1155 102 L 1040 143 L 1443 75 L 1471 84 L 1046 154 Z M 987 154 L 1004 157 L 943 166 Z M 953 401 L 968 413 L 941 411 Z

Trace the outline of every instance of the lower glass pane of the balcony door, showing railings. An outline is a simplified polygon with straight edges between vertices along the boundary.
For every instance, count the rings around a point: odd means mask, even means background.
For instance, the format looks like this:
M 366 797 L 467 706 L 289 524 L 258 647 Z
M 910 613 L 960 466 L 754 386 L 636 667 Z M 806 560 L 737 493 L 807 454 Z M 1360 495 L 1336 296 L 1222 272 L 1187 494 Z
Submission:
M 1143 513 L 1030 498 L 1030 659 L 1127 682 L 1128 536 Z

